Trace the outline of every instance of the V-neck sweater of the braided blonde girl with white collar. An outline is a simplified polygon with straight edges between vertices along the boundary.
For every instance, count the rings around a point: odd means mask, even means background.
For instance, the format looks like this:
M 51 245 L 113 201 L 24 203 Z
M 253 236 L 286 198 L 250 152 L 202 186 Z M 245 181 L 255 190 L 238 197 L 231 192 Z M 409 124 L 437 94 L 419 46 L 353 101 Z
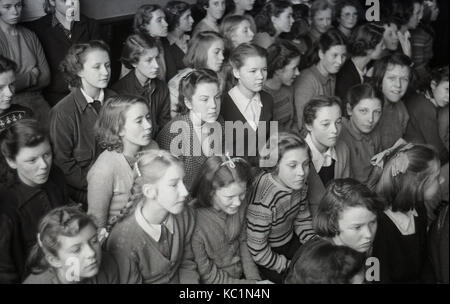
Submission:
M 138 224 L 136 212 L 114 226 L 107 250 L 117 260 L 121 283 L 198 283 L 191 248 L 195 219 L 192 210 L 186 208 L 178 215 L 170 215 L 173 216 L 174 231 L 169 259 L 159 251 L 158 242 Z

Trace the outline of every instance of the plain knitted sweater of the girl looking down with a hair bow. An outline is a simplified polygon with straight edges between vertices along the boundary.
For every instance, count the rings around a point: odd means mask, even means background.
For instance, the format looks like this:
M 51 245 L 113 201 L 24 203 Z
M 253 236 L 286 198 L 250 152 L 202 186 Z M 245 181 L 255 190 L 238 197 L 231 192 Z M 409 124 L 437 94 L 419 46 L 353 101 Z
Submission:
M 213 207 L 196 209 L 192 250 L 203 283 L 249 284 L 261 279 L 247 248 L 246 211 L 241 206 L 239 213 L 230 216 Z M 233 227 L 240 231 L 234 239 L 228 236 L 230 224 L 241 225 Z

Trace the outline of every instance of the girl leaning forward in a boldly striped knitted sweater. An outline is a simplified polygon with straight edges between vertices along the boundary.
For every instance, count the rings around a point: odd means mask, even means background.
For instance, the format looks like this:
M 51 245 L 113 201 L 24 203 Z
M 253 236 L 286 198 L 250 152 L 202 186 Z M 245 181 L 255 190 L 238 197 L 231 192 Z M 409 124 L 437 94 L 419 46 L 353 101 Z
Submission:
M 256 178 L 250 194 L 247 245 L 261 277 L 281 283 L 295 251 L 315 235 L 306 199 L 311 163 L 308 145 L 287 132 L 274 139 L 261 158 L 276 163 Z

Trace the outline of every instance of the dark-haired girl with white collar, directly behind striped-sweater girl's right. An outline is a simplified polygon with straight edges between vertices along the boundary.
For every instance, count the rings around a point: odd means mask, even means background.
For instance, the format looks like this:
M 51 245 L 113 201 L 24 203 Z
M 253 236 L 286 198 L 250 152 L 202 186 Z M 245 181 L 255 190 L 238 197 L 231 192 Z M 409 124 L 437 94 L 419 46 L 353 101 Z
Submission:
M 350 151 L 339 139 L 342 114 L 337 97 L 318 96 L 303 111 L 305 141 L 311 149 L 314 170 L 322 184 L 351 176 Z

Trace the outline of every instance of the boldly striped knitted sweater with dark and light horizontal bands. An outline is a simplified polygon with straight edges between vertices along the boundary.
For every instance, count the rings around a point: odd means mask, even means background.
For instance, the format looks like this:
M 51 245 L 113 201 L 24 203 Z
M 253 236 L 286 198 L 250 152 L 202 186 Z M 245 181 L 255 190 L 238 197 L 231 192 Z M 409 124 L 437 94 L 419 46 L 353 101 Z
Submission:
M 294 233 L 301 243 L 314 237 L 306 195 L 307 189 L 286 188 L 271 173 L 256 179 L 247 210 L 247 244 L 258 265 L 281 273 L 288 260 L 271 247 L 285 245 Z

